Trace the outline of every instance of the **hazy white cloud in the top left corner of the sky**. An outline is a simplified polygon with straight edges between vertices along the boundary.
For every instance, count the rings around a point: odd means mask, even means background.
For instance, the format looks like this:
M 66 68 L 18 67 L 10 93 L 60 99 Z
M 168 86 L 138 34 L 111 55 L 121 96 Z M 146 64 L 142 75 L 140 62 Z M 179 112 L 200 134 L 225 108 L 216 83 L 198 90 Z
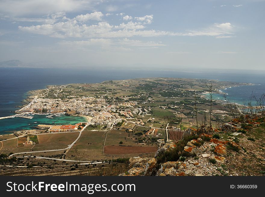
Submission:
M 73 12 L 92 7 L 95 0 L 1 0 L 0 12 L 11 16 Z

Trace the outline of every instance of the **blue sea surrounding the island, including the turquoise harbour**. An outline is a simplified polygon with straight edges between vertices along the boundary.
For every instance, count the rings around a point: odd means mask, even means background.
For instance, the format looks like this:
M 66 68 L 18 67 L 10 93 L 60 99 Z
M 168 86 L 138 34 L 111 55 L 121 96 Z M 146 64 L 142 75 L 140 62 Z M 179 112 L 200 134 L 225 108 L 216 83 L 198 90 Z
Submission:
M 27 98 L 28 91 L 43 89 L 47 85 L 98 83 L 104 80 L 148 77 L 195 78 L 255 84 L 254 86 L 231 87 L 221 90 L 228 94 L 227 99 L 229 99 L 230 102 L 242 104 L 249 99 L 252 91 L 253 95 L 256 97 L 260 97 L 265 92 L 264 74 L 264 71 L 208 70 L 202 72 L 196 70 L 163 70 L 162 68 L 160 70 L 106 68 L 0 68 L 0 117 L 14 114 L 14 111 L 18 109 L 17 106 L 21 106 L 21 101 Z M 215 96 L 216 98 L 222 99 L 221 95 Z M 38 122 L 36 121 L 37 119 L 41 120 L 39 122 L 45 122 L 45 117 L 34 117 L 31 120 L 33 122 Z M 5 133 L 5 131 L 29 129 L 29 127 L 32 128 L 29 126 L 30 123 L 28 123 L 31 120 L 24 118 L 0 120 L 0 134 Z M 54 119 L 51 120 L 54 121 Z M 78 121 L 79 120 L 73 119 L 72 123 Z M 14 124 L 16 126 L 14 126 Z

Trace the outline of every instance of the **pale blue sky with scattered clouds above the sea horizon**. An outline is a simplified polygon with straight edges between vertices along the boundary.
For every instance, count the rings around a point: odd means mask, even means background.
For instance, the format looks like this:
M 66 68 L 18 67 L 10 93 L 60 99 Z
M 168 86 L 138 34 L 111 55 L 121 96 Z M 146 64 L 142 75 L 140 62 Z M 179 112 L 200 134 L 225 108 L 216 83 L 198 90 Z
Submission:
M 0 61 L 265 70 L 265 0 L 1 0 Z

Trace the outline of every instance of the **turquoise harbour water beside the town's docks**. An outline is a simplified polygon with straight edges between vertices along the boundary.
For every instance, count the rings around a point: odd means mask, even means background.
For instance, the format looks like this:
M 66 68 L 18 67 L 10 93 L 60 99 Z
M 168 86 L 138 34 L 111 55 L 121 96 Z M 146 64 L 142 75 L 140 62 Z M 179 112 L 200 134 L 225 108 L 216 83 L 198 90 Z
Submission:
M 8 134 L 7 131 L 19 131 L 27 129 L 36 129 L 38 124 L 52 124 L 52 125 L 65 125 L 76 124 L 79 122 L 86 122 L 86 118 L 82 116 L 66 116 L 46 118 L 46 115 L 34 115 L 34 118 L 7 118 L 0 120 L 0 134 Z M 37 123 L 34 123 L 37 122 Z M 53 123 L 54 122 L 54 123 Z

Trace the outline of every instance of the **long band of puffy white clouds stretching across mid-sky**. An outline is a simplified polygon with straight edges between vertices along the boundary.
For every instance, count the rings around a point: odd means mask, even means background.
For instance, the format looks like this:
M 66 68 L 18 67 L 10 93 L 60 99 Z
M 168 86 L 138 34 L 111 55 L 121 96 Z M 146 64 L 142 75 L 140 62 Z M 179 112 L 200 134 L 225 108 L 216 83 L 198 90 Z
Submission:
M 48 35 L 56 38 L 125 38 L 133 36 L 215 36 L 221 38 L 224 36 L 228 37 L 233 34 L 233 26 L 231 23 L 215 23 L 213 26 L 204 30 L 191 30 L 185 33 L 177 33 L 153 29 L 142 30 L 146 28 L 146 24 L 152 22 L 153 15 L 135 17 L 138 22 L 129 21 L 128 23 L 121 23 L 120 25 L 115 26 L 106 21 L 92 25 L 85 24 L 87 20 L 101 20 L 101 17 L 104 16 L 101 12 L 78 15 L 73 19 L 69 19 L 64 15 L 64 13 L 52 14 L 49 18 L 51 19 L 51 21 L 49 21 L 50 23 L 47 23 L 46 20 L 42 25 L 32 25 L 29 27 L 19 26 L 18 29 L 25 32 Z M 61 21 L 53 23 L 55 20 L 58 20 L 59 17 L 61 17 Z

